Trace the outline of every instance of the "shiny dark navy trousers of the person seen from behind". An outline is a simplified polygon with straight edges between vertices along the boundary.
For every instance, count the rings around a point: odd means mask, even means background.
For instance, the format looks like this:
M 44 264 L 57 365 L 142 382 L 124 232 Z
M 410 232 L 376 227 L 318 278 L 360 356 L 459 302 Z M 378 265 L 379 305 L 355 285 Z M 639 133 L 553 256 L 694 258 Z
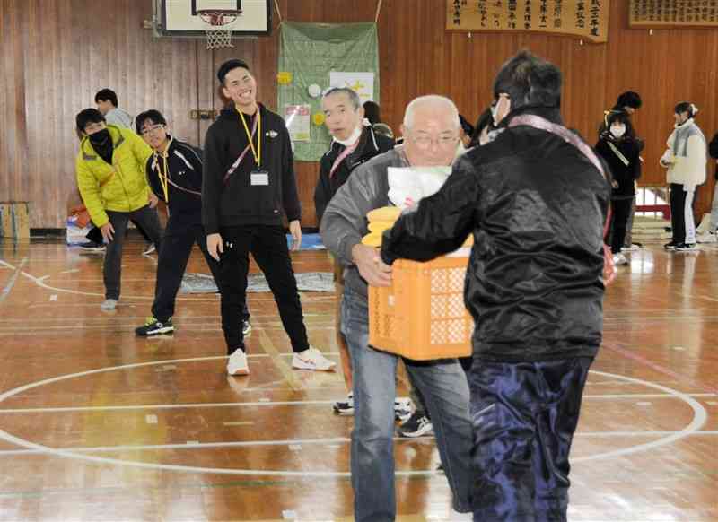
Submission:
M 475 522 L 565 522 L 568 455 L 592 361 L 474 361 Z

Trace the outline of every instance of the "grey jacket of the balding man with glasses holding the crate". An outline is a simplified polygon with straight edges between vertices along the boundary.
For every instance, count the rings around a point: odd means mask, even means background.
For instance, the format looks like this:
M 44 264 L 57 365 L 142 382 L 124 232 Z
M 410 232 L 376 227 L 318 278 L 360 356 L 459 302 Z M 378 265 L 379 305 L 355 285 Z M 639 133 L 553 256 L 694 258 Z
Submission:
M 389 202 L 389 167 L 408 167 L 404 148 L 374 156 L 357 167 L 346 183 L 331 198 L 320 223 L 321 239 L 329 251 L 345 266 L 345 285 L 367 295 L 367 285 L 352 260 L 352 248 L 369 233 L 366 214 Z

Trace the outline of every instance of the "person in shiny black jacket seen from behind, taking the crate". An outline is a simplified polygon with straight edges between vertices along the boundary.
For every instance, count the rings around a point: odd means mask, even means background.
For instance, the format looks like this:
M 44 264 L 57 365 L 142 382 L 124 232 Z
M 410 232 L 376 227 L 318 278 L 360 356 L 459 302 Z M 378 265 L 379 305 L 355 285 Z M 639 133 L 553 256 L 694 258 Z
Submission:
M 473 233 L 464 295 L 476 322 L 474 520 L 560 522 L 601 342 L 610 185 L 591 147 L 561 123 L 555 65 L 522 51 L 494 94 L 501 133 L 384 233 L 382 265 L 439 256 Z

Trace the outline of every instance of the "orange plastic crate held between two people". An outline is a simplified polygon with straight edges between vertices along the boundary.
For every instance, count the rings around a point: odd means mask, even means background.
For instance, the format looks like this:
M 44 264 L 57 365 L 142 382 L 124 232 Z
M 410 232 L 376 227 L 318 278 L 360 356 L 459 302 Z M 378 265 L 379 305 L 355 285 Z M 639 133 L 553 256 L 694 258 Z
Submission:
M 390 287 L 369 287 L 369 344 L 407 359 L 471 354 L 474 319 L 464 306 L 468 257 L 399 259 Z

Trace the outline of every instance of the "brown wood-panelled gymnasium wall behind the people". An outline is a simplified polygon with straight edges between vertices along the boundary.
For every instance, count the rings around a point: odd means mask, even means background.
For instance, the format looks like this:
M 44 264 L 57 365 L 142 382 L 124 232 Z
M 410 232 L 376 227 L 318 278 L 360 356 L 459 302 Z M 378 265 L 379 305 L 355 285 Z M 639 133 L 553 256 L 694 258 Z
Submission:
M 450 96 L 475 119 L 491 97 L 503 61 L 521 48 L 547 57 L 564 72 L 564 116 L 591 143 L 603 109 L 620 91 L 639 91 L 644 108 L 635 126 L 646 140 L 644 184 L 661 184 L 658 167 L 679 100 L 701 109 L 697 121 L 710 139 L 718 126 L 716 30 L 628 29 L 625 0 L 611 3 L 609 43 L 538 34 L 472 34 L 444 30 L 445 0 L 384 0 L 379 20 L 381 107 L 398 132 L 412 98 Z M 365 22 L 370 0 L 279 0 L 282 17 L 298 22 Z M 152 0 L 0 0 L 0 200 L 30 201 L 33 228 L 63 227 L 74 192 L 74 115 L 93 106 L 94 92 L 110 87 L 120 106 L 136 115 L 162 110 L 175 135 L 200 144 L 206 121 L 191 109 L 220 107 L 216 66 L 242 57 L 258 77 L 260 100 L 276 106 L 278 31 L 235 40 L 235 48 L 207 51 L 201 40 L 154 39 L 142 22 Z M 304 226 L 315 226 L 315 163 L 298 163 Z M 697 210 L 710 205 L 714 169 Z

